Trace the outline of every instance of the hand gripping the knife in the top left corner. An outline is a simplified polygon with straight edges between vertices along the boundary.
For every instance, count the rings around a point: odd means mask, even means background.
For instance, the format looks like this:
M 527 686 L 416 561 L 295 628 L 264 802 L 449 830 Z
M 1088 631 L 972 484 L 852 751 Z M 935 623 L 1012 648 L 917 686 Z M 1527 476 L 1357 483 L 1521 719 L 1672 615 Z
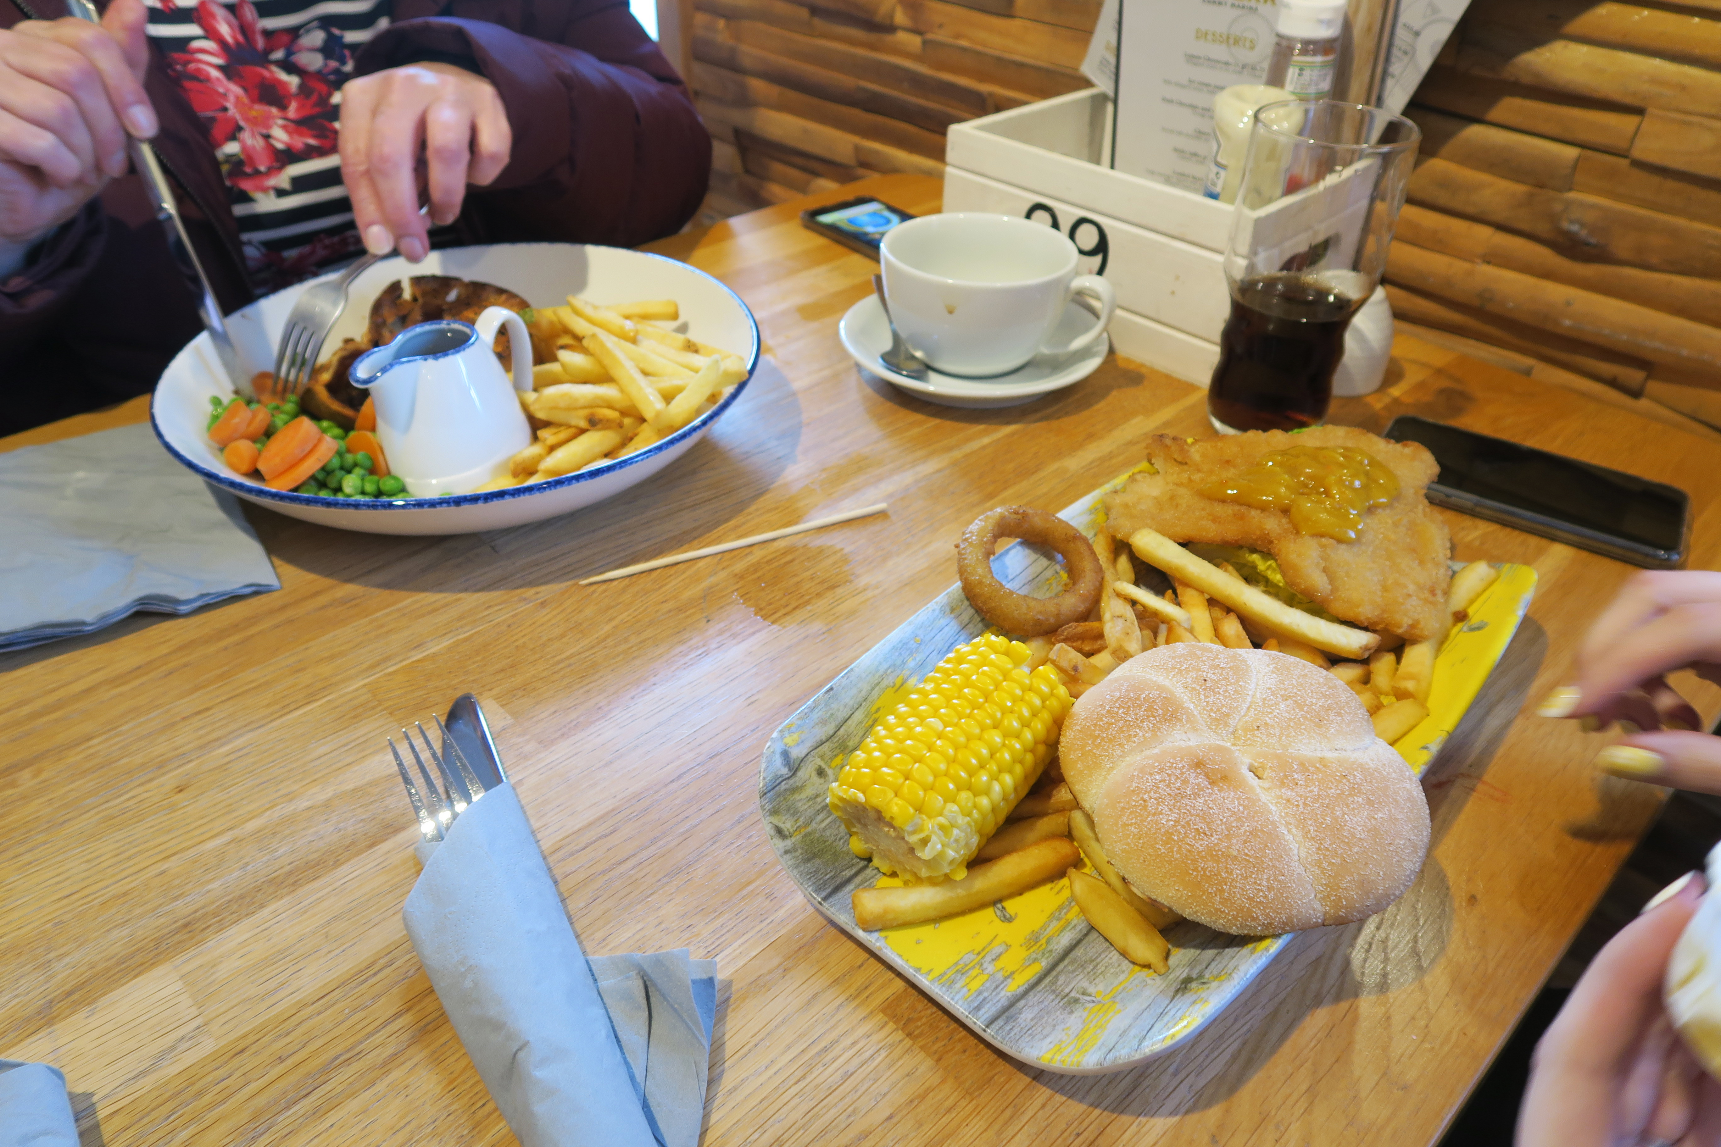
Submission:
M 155 134 L 146 22 L 141 0 L 114 0 L 100 26 L 0 29 L 0 244 L 28 246 L 64 224 L 126 174 L 127 134 Z

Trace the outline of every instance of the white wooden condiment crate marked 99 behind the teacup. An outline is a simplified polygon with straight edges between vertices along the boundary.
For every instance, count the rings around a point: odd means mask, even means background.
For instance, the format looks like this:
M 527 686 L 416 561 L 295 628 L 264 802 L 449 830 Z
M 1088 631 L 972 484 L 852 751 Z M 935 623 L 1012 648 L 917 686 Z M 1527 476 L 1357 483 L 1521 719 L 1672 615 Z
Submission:
M 945 210 L 1031 215 L 1070 236 L 1093 251 L 1083 270 L 1117 289 L 1119 354 L 1205 387 L 1231 311 L 1220 256 L 1232 208 L 1103 167 L 1108 136 L 1098 88 L 953 124 Z

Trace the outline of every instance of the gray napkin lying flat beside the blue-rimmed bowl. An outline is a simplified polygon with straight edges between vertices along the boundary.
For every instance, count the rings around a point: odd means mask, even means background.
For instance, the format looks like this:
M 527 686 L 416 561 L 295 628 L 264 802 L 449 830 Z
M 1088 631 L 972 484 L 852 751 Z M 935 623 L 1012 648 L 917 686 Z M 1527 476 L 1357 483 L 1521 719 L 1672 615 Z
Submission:
M 0 454 L 0 650 L 279 590 L 239 502 L 148 425 Z

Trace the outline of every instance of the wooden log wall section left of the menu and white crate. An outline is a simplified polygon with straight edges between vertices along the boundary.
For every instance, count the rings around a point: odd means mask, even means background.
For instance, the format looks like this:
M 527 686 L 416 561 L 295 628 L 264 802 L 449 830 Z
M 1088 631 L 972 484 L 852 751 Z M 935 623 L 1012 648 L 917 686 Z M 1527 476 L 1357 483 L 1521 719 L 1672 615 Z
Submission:
M 950 124 L 1088 88 L 1100 0 L 692 0 L 712 134 L 700 222 L 885 172 L 943 175 Z

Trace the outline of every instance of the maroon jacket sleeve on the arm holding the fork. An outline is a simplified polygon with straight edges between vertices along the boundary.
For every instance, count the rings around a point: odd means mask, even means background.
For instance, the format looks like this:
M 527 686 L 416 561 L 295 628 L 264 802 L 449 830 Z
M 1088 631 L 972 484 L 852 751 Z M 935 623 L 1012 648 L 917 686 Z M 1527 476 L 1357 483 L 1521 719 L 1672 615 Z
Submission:
M 408 10 L 403 3 L 398 15 Z M 711 175 L 711 138 L 625 5 L 454 0 L 444 10 L 380 33 L 355 72 L 470 58 L 496 84 L 513 155 L 470 196 L 487 239 L 635 246 L 692 218 Z

